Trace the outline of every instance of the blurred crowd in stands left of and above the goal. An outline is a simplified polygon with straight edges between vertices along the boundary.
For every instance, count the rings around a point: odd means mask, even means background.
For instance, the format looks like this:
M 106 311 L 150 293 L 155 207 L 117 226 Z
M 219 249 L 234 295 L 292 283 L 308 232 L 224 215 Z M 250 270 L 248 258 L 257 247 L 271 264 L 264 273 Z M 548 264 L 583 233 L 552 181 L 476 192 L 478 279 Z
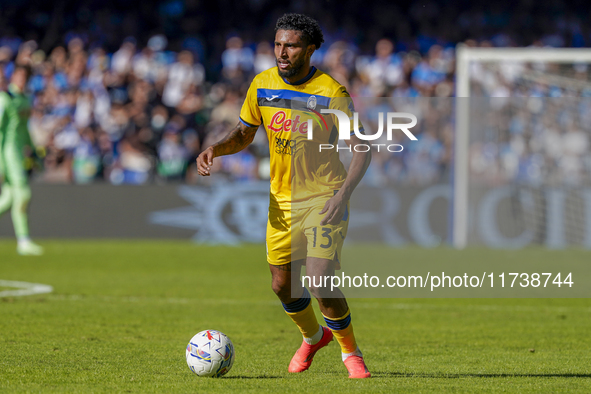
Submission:
M 0 12 L 0 89 L 6 89 L 15 64 L 33 69 L 30 132 L 43 157 L 36 180 L 207 182 L 197 176 L 195 158 L 238 123 L 253 76 L 275 66 L 273 24 L 286 11 L 265 0 L 219 3 L 159 2 L 160 19 L 142 5 L 136 14 L 116 7 L 94 10 L 96 5 L 52 14 L 37 5 L 26 17 L 29 34 L 7 28 L 10 15 Z M 544 24 L 528 2 L 465 10 L 460 1 L 409 2 L 403 8 L 334 3 L 346 10 L 340 21 L 314 3 L 294 2 L 290 10 L 319 19 L 326 42 L 312 63 L 353 97 L 454 96 L 454 47 L 461 41 L 584 46 L 591 39 L 585 20 L 573 11 L 559 7 L 553 11 L 560 17 Z M 232 15 L 226 17 L 223 7 L 234 7 Z M 265 7 L 272 12 L 261 13 Z M 56 18 L 70 21 L 70 30 L 61 32 Z M 524 23 L 530 26 L 527 32 L 519 30 Z M 154 31 L 158 34 L 149 33 Z M 419 141 L 402 153 L 378 155 L 366 182 L 448 180 L 453 129 L 451 111 L 446 111 L 420 122 Z M 268 157 L 260 130 L 251 146 L 217 160 L 213 171 L 237 181 L 265 179 Z

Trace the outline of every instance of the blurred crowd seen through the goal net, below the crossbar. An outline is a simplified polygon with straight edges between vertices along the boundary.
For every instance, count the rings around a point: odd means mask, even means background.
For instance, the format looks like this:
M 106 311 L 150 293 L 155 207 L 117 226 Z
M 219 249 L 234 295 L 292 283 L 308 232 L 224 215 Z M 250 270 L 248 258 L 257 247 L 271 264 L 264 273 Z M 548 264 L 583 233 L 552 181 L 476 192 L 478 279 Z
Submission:
M 473 65 L 472 179 L 591 184 L 589 71 L 584 63 Z

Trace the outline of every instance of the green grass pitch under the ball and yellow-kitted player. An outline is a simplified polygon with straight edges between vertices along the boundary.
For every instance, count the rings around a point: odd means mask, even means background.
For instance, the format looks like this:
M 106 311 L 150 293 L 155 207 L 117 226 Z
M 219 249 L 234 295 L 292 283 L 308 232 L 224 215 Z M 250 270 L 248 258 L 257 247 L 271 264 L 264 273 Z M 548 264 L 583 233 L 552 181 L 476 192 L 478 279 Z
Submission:
M 348 379 L 336 342 L 291 375 L 301 337 L 271 291 L 264 246 L 42 244 L 45 256 L 24 258 L 0 242 L 0 279 L 54 287 L 0 299 L 0 392 L 591 392 L 589 299 L 350 300 L 373 377 Z M 462 258 L 418 248 L 396 256 L 442 254 Z M 221 379 L 186 365 L 185 347 L 204 329 L 234 342 Z

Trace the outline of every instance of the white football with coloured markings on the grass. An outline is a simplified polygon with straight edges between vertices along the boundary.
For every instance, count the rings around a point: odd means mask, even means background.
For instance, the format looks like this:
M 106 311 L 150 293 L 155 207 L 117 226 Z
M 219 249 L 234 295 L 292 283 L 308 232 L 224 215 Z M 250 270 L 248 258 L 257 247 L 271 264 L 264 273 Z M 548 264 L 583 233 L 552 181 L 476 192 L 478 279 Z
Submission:
M 224 333 L 205 330 L 191 338 L 186 356 L 189 369 L 196 375 L 219 378 L 234 364 L 234 345 Z

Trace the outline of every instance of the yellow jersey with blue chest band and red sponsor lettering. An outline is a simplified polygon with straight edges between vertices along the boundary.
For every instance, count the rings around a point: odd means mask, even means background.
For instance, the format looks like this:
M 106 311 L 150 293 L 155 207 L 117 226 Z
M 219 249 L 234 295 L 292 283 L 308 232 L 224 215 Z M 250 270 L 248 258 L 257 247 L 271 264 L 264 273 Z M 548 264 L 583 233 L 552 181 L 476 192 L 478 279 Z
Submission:
M 322 109 L 339 109 L 353 119 L 345 87 L 315 67 L 296 83 L 280 77 L 277 67 L 252 81 L 240 121 L 249 127 L 262 124 L 267 132 L 272 207 L 324 205 L 345 181 L 347 171 L 336 149 L 338 121 L 332 114 L 321 114 Z M 313 139 L 308 139 L 310 124 Z M 327 145 L 320 149 L 321 144 Z M 332 149 L 327 148 L 329 144 Z

